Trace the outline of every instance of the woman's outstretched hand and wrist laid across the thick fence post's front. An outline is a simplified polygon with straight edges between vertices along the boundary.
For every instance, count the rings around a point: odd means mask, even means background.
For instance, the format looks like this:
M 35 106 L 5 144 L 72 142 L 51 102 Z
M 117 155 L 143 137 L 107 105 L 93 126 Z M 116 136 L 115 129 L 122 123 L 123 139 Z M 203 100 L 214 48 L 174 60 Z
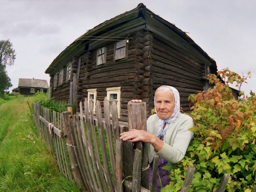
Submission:
M 120 135 L 120 139 L 123 141 L 131 140 L 132 142 L 142 141 L 144 143 L 150 143 L 157 152 L 160 151 L 164 145 L 164 142 L 156 137 L 156 135 L 143 130 L 130 129 L 128 132 L 123 132 Z

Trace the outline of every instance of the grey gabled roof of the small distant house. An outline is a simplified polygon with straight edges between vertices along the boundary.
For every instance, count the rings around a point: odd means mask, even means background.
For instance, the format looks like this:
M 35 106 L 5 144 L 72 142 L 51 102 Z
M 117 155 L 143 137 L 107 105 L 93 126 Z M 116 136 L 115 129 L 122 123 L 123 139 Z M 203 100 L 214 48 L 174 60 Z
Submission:
M 18 87 L 32 87 L 32 88 L 46 88 L 48 89 L 48 83 L 46 80 L 41 79 L 19 79 Z

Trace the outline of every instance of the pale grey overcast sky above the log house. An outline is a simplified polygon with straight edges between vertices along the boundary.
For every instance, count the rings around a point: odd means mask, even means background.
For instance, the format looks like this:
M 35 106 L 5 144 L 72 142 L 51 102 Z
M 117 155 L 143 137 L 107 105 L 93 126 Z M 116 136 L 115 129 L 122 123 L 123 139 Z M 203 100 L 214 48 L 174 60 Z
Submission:
M 254 0 L 0 0 L 0 40 L 11 39 L 17 55 L 8 67 L 13 87 L 19 78 L 48 81 L 45 69 L 87 30 L 139 3 L 187 33 L 216 63 L 252 78 L 242 90 L 256 91 L 256 1 Z M 235 86 L 233 86 L 235 87 Z

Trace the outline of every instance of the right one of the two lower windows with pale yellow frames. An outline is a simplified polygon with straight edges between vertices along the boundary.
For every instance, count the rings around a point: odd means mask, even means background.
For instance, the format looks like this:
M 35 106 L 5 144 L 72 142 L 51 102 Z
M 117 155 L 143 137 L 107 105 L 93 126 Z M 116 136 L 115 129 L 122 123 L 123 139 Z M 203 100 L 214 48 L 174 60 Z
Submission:
M 115 101 L 117 105 L 118 118 L 120 118 L 120 97 L 121 97 L 121 87 L 111 87 L 107 88 L 107 99 L 109 101 L 109 112 L 111 115 L 112 103 Z

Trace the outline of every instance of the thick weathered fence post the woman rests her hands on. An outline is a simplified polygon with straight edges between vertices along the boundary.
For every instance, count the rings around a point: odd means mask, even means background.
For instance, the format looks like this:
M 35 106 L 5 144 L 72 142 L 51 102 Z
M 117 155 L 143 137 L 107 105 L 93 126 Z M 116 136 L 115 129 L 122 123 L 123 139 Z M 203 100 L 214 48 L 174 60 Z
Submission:
M 146 102 L 128 103 L 128 124 L 129 129 L 139 129 L 147 131 L 147 106 Z M 148 150 L 143 150 L 147 144 L 141 141 L 136 142 L 135 148 L 142 152 L 142 168 L 148 166 Z M 148 189 L 148 169 L 141 172 L 141 186 Z

